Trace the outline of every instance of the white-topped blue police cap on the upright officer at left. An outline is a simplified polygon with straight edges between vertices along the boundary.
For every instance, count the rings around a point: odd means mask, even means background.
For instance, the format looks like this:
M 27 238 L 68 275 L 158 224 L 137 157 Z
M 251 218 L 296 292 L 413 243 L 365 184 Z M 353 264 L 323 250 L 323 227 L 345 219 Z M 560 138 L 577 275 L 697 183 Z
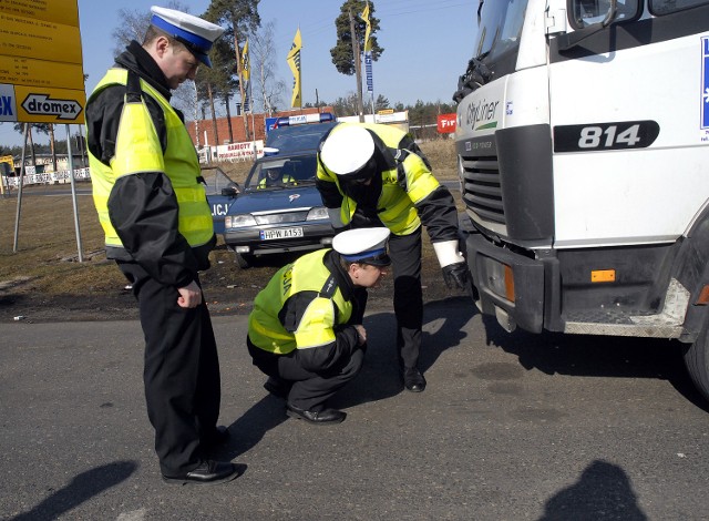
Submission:
M 207 54 L 212 49 L 212 44 L 224 33 L 222 27 L 174 9 L 153 6 L 151 12 L 153 13 L 151 18 L 152 25 L 175 38 L 197 60 L 209 68 L 212 67 L 212 61 Z

